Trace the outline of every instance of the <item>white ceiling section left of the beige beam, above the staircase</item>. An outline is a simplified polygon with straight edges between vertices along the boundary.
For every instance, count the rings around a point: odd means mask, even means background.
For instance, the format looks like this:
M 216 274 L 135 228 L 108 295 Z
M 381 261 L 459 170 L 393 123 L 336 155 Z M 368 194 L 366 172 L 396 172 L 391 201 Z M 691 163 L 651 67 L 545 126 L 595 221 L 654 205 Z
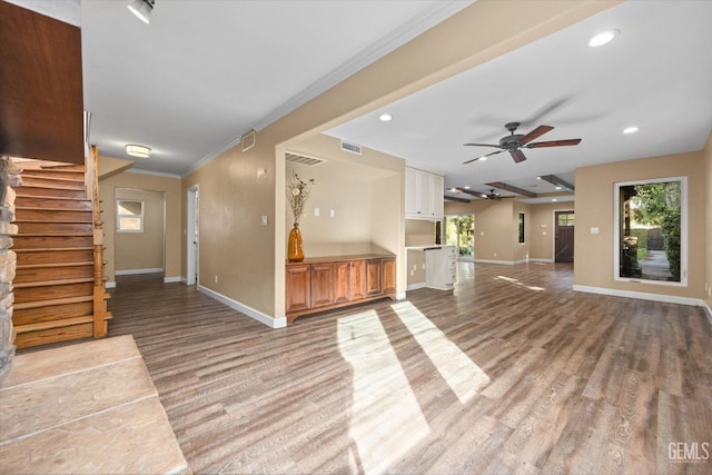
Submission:
M 433 27 L 467 1 L 81 2 L 85 108 L 102 155 L 185 175 Z

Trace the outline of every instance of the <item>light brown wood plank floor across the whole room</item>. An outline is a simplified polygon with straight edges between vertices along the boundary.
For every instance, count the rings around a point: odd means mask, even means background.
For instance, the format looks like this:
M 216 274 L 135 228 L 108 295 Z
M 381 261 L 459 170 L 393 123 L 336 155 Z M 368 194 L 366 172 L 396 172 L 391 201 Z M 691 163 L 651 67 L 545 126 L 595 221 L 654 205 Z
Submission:
M 712 473 L 704 311 L 572 270 L 461 264 L 454 293 L 284 329 L 120 277 L 109 336 L 134 335 L 196 473 Z

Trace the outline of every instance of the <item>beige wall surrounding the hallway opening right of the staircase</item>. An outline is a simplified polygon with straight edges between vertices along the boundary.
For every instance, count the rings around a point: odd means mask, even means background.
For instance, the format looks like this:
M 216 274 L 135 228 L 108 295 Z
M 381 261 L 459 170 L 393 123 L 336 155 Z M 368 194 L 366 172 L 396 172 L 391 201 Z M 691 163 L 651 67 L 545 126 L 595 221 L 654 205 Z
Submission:
M 103 157 L 99 158 L 99 166 Z M 142 190 L 152 190 L 165 194 L 166 198 L 166 239 L 164 250 L 164 275 L 166 279 L 180 279 L 181 263 L 185 253 L 180 251 L 180 237 L 182 231 L 180 228 L 182 206 L 180 199 L 180 178 L 162 177 L 155 175 L 120 172 L 111 175 L 108 178 L 99 180 L 99 199 L 102 201 L 103 218 L 103 244 L 106 247 L 105 275 L 107 280 L 115 280 L 116 270 L 116 189 L 132 188 Z M 185 273 L 184 273 L 185 275 Z

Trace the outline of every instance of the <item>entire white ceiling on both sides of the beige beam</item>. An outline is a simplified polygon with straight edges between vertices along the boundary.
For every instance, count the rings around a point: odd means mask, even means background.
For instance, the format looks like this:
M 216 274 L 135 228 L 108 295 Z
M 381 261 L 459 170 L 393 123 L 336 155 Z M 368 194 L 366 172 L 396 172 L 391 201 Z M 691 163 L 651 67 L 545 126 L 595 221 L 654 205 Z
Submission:
M 469 3 L 156 0 L 147 26 L 128 0 L 82 0 L 90 141 L 119 158 L 126 144 L 149 146 L 135 168 L 185 175 Z M 627 1 L 327 133 L 481 191 L 503 181 L 548 192 L 537 176 L 573 182 L 576 167 L 700 150 L 712 130 L 710 20 L 712 1 Z M 621 30 L 612 43 L 587 47 L 610 28 Z M 378 121 L 383 111 L 394 120 Z M 555 127 L 536 141 L 582 142 L 463 165 L 495 150 L 463 144 L 496 144 L 510 121 L 522 133 Z M 624 136 L 630 125 L 641 129 Z

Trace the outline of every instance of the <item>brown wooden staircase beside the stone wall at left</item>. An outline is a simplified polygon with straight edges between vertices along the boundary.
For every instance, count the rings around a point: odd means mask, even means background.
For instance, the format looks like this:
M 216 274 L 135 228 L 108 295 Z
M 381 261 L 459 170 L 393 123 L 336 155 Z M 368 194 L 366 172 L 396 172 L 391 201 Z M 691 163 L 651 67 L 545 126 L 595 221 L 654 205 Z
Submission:
M 18 164 L 22 185 L 16 188 L 18 235 L 12 247 L 18 348 L 107 334 L 111 314 L 95 160 L 87 160 L 90 172 L 82 165 Z

